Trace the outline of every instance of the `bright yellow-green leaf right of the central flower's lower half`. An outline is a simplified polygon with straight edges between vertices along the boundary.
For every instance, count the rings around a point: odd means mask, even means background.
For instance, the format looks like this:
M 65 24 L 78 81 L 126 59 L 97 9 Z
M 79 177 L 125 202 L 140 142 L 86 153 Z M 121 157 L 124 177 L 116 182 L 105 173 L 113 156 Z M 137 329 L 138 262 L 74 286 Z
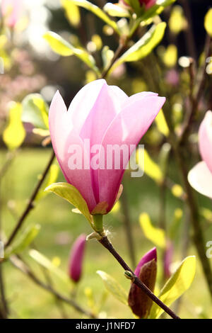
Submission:
M 160 166 L 151 159 L 146 149 L 138 149 L 136 153 L 141 170 L 145 171 L 151 179 L 160 184 L 163 181 L 163 172 Z

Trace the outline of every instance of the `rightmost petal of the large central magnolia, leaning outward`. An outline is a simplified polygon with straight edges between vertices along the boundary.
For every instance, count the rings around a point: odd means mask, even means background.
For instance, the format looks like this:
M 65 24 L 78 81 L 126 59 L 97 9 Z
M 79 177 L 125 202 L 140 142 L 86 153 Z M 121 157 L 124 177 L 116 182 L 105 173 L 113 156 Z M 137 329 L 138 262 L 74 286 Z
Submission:
M 118 145 L 119 147 L 122 145 L 127 145 L 128 147 L 130 145 L 137 145 L 164 103 L 164 97 L 145 96 L 140 101 L 135 101 L 126 106 L 114 118 L 107 129 L 102 140 L 100 157 L 102 154 L 106 154 L 108 145 Z M 129 161 L 131 153 L 132 151 L 129 152 L 128 156 L 124 157 L 124 160 L 123 156 L 121 157 L 119 169 L 115 169 L 113 165 L 112 169 L 98 170 L 99 201 L 107 201 L 109 204 L 108 211 L 112 208 L 117 197 L 124 168 Z

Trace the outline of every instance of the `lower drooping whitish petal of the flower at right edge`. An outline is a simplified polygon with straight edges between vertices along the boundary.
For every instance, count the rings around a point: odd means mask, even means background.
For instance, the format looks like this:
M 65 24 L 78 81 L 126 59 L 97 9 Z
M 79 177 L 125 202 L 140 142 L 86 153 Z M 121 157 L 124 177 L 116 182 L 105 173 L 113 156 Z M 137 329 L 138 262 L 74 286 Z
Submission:
M 206 162 L 199 162 L 189 171 L 188 181 L 197 192 L 212 198 L 212 174 Z

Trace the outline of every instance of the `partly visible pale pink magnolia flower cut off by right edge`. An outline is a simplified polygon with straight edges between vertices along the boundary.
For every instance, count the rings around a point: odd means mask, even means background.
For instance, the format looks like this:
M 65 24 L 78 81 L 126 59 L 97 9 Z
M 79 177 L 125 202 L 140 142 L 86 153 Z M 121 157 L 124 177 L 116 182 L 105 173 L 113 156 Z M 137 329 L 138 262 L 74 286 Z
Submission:
M 199 152 L 203 159 L 189 171 L 189 183 L 196 191 L 212 198 L 212 112 L 208 111 L 199 128 Z

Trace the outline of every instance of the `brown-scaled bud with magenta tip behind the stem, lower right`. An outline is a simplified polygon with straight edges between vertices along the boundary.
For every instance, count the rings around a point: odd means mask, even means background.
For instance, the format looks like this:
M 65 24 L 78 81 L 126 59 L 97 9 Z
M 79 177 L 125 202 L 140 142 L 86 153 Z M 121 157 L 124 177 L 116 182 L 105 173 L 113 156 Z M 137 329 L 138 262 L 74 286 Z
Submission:
M 151 291 L 154 290 L 157 274 L 157 252 L 155 247 L 142 257 L 134 273 Z M 132 283 L 129 290 L 128 303 L 132 312 L 140 319 L 144 319 L 148 317 L 153 301 L 146 293 L 143 293 L 141 288 Z

